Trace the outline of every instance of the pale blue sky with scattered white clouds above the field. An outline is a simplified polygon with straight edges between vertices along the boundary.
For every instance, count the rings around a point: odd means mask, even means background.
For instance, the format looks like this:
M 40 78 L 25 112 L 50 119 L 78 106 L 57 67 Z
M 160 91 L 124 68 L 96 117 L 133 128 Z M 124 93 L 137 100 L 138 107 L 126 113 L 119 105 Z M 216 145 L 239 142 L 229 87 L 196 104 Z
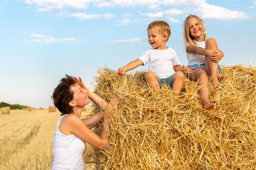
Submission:
M 205 20 L 225 66 L 256 62 L 255 0 L 2 0 L 0 102 L 47 108 L 65 74 L 93 89 L 100 67 L 117 70 L 150 48 L 147 26 L 154 20 L 168 22 L 167 46 L 187 65 L 182 23 L 190 13 Z

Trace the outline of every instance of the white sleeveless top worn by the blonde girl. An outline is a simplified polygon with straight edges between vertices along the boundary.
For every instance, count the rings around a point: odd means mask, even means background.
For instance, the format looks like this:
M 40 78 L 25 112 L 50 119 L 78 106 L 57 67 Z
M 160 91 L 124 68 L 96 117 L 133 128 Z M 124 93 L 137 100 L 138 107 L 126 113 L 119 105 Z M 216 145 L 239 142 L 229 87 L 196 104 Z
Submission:
M 196 46 L 200 46 L 202 48 L 205 48 L 205 41 L 195 41 Z M 188 43 L 189 45 L 189 43 Z M 193 64 L 204 64 L 205 63 L 205 55 L 198 55 L 196 57 L 196 53 L 188 53 L 187 52 L 187 56 L 188 56 L 188 64 L 190 66 L 192 66 Z

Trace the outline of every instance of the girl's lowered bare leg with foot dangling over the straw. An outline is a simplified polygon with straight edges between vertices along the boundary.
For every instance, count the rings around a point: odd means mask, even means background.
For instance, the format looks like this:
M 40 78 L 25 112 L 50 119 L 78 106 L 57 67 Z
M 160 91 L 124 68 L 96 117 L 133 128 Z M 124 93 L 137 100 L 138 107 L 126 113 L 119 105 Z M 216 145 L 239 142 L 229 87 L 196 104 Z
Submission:
M 198 94 L 203 101 L 204 108 L 206 110 L 211 110 L 214 107 L 214 103 L 209 102 L 209 90 L 207 87 L 208 77 L 207 73 L 201 67 L 195 67 L 193 74 L 189 74 L 189 79 L 193 81 L 198 80 L 198 86 L 200 89 L 198 90 Z

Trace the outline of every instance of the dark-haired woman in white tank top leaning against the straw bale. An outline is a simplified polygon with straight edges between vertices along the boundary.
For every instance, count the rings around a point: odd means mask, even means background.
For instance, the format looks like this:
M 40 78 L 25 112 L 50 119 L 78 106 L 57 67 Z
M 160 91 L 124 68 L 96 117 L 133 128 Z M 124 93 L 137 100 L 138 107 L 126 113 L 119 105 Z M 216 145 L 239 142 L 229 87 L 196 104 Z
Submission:
M 92 100 L 100 110 L 113 108 L 120 103 L 114 98 L 106 103 L 97 94 L 85 87 L 79 77 L 66 75 L 52 94 L 54 105 L 61 112 L 52 141 L 52 169 L 85 169 L 83 155 L 85 143 L 95 148 L 106 149 L 108 146 L 108 116 L 99 112 L 92 117 L 80 119 L 83 107 Z M 90 129 L 101 122 L 103 127 L 100 136 Z

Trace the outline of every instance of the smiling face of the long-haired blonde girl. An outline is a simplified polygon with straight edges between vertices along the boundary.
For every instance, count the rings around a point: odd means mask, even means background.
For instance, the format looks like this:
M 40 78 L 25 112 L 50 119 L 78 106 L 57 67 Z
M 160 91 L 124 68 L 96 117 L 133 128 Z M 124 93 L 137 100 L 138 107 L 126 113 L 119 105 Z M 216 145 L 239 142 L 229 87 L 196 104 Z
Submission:
M 188 27 L 189 27 L 189 35 L 195 39 L 195 41 L 200 41 L 202 28 L 196 18 L 189 18 L 188 20 Z

